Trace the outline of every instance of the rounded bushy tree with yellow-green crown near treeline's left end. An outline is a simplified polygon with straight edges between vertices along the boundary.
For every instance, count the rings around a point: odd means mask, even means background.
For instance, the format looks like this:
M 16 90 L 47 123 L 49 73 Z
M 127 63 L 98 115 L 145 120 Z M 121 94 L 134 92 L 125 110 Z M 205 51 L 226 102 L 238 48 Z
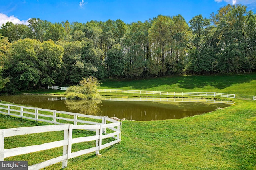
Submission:
M 41 75 L 38 68 L 38 54 L 41 51 L 41 43 L 38 40 L 26 38 L 12 44 L 6 53 L 8 58 L 6 72 L 10 77 L 10 84 L 6 86 L 11 86 L 13 92 L 28 90 L 38 84 Z

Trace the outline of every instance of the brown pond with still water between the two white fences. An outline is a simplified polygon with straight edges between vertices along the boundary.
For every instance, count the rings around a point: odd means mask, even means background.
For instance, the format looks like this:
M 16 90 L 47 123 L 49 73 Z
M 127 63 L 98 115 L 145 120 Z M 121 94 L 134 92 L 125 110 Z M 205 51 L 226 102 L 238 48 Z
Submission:
M 180 119 L 200 115 L 230 104 L 204 102 L 127 102 L 104 100 L 59 100 L 46 95 L 0 96 L 2 101 L 43 109 L 69 111 L 87 115 L 118 117 L 119 119 L 151 121 Z

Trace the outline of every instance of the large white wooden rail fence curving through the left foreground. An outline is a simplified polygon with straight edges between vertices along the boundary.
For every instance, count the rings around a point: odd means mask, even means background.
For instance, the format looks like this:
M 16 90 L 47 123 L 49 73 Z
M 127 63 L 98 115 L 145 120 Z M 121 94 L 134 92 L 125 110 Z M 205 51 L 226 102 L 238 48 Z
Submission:
M 20 109 L 17 109 L 17 108 L 20 108 Z M 34 112 L 30 112 L 29 110 L 34 110 Z M 52 115 L 38 113 L 38 111 L 50 112 L 50 113 L 52 113 Z M 74 158 L 76 156 L 80 156 L 80 155 L 87 154 L 87 153 L 94 152 L 94 151 L 96 152 L 96 154 L 99 154 L 99 151 L 101 149 L 104 149 L 106 147 L 109 147 L 109 146 L 114 145 L 115 143 L 118 143 L 121 141 L 121 122 L 115 121 L 108 117 L 83 115 L 83 114 L 78 114 L 78 113 L 63 112 L 63 111 L 48 110 L 48 109 L 39 109 L 39 108 L 24 107 L 24 106 L 17 106 L 17 105 L 11 105 L 11 104 L 2 104 L 2 103 L 0 103 L 0 113 L 6 114 L 6 115 L 12 115 L 12 116 L 16 116 L 16 117 L 22 117 L 22 118 L 26 118 L 26 119 L 32 119 L 32 120 L 36 120 L 36 121 L 45 121 L 45 122 L 49 122 L 49 123 L 62 124 L 62 125 L 0 129 L 0 161 L 3 161 L 4 158 L 11 157 L 11 156 L 17 156 L 20 154 L 27 154 L 27 153 L 32 153 L 32 152 L 37 152 L 37 151 L 41 151 L 41 150 L 47 150 L 47 149 L 52 149 L 52 148 L 63 146 L 63 155 L 62 156 L 47 160 L 45 162 L 41 162 L 39 164 L 31 165 L 28 167 L 29 170 L 38 170 L 38 169 L 44 168 L 46 166 L 56 164 L 61 161 L 62 161 L 62 168 L 64 168 L 67 166 L 68 159 L 70 159 L 70 158 Z M 66 117 L 60 117 L 59 115 L 57 116 L 58 113 L 63 114 L 63 115 L 73 116 L 74 118 L 70 119 L 70 118 L 66 118 Z M 34 117 L 30 117 L 28 115 L 33 115 Z M 46 117 L 46 118 L 50 118 L 52 120 L 47 120 L 47 119 L 43 119 L 43 118 L 39 118 L 39 117 Z M 81 120 L 78 118 L 100 119 L 100 122 L 85 121 L 85 120 Z M 57 119 L 71 121 L 74 123 L 74 125 L 60 123 L 57 121 Z M 107 122 L 108 122 L 108 124 L 107 124 Z M 77 123 L 82 123 L 82 124 L 87 124 L 87 125 L 77 125 Z M 85 130 L 95 131 L 96 135 L 72 139 L 73 129 L 85 129 Z M 111 133 L 107 134 L 106 129 L 110 129 Z M 5 137 L 26 135 L 26 134 L 32 134 L 32 133 L 52 132 L 52 131 L 64 131 L 64 139 L 61 141 L 44 143 L 41 145 L 4 149 L 4 138 Z M 102 133 L 105 133 L 106 135 L 102 135 Z M 114 141 L 111 141 L 109 143 L 102 145 L 102 139 L 110 138 L 110 137 L 114 138 Z M 89 148 L 89 149 L 80 150 L 77 152 L 71 152 L 72 144 L 88 142 L 88 141 L 96 141 L 96 146 Z

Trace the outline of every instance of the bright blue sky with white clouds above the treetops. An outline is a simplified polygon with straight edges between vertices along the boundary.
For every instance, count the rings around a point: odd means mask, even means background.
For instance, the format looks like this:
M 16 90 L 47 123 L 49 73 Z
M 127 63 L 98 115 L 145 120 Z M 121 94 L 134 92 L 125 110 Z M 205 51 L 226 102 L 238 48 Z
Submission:
M 256 0 L 0 0 L 0 25 L 7 21 L 28 25 L 30 18 L 52 23 L 120 19 L 129 24 L 178 14 L 188 22 L 199 14 L 210 18 L 227 4 L 246 5 L 256 14 Z

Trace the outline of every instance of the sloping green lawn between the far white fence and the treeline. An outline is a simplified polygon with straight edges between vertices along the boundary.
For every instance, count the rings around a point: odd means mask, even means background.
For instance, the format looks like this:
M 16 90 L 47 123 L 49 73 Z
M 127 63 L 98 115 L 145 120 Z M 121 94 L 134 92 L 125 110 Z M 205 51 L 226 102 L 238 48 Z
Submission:
M 256 73 L 167 76 L 131 81 L 112 80 L 103 82 L 100 88 L 256 95 Z

